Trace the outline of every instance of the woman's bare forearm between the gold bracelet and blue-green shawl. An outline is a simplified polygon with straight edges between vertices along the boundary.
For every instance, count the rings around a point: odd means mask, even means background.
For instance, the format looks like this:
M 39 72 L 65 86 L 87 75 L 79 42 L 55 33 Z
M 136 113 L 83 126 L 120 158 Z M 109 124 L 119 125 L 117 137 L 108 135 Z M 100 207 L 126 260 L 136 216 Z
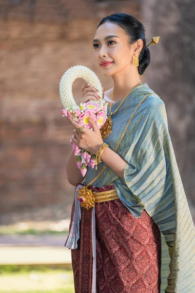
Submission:
M 110 167 L 117 175 L 124 180 L 124 169 L 127 164 L 121 156 L 119 156 L 110 147 L 105 147 L 101 154 L 101 161 Z

